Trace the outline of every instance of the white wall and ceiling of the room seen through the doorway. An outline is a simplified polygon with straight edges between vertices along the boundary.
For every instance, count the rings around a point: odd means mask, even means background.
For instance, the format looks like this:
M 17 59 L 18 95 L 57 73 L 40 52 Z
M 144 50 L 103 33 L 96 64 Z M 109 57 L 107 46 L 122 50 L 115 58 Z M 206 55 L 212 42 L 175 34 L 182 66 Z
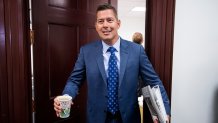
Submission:
M 119 35 L 130 41 L 135 32 L 142 33 L 145 39 L 145 12 L 132 11 L 134 7 L 146 7 L 146 0 L 118 0 Z

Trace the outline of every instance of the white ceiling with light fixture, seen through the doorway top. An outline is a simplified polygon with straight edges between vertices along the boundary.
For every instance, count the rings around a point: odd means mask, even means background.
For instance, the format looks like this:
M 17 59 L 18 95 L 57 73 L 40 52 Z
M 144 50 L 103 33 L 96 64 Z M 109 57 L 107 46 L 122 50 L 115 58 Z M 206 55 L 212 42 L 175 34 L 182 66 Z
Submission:
M 145 7 L 146 0 L 118 0 L 119 17 L 144 18 L 145 12 L 133 12 L 134 7 Z

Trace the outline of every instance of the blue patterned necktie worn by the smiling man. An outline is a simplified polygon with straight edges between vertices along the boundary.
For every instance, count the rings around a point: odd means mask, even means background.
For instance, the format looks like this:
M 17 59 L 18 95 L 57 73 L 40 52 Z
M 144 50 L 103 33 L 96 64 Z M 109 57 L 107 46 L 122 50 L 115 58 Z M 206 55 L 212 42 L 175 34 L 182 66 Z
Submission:
M 108 62 L 108 110 L 112 114 L 118 111 L 118 67 L 117 57 L 115 56 L 116 49 L 109 47 L 107 52 L 110 52 Z

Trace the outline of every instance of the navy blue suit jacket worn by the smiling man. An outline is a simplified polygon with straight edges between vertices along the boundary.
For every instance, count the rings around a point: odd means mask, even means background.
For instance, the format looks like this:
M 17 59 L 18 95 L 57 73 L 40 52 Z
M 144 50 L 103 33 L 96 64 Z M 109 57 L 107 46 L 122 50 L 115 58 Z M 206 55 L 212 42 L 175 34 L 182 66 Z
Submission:
M 87 122 L 104 123 L 107 111 L 107 76 L 103 62 L 102 42 L 95 41 L 80 49 L 74 69 L 67 81 L 63 94 L 73 98 L 79 87 L 87 80 Z M 145 85 L 159 85 L 167 113 L 169 100 L 161 80 L 155 73 L 141 45 L 120 40 L 120 75 L 118 87 L 119 110 L 123 123 L 140 123 L 137 98 L 138 77 Z

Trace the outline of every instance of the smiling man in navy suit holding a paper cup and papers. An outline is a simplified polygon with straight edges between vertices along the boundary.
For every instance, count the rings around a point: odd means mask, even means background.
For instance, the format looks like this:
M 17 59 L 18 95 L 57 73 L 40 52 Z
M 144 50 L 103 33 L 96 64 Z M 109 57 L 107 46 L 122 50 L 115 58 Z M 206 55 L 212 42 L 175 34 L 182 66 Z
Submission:
M 73 99 L 84 80 L 87 80 L 87 122 L 88 123 L 140 123 L 137 101 L 138 78 L 145 85 L 159 85 L 167 114 L 170 114 L 169 100 L 161 80 L 155 73 L 141 45 L 124 40 L 118 35 L 120 20 L 116 9 L 109 5 L 99 5 L 96 11 L 96 31 L 101 40 L 89 43 L 80 49 L 75 67 L 65 85 L 63 94 Z M 108 48 L 115 49 L 115 66 L 118 68 L 117 88 L 115 90 L 118 106 L 115 112 L 108 107 L 109 67 Z M 114 108 L 114 107 L 112 107 Z M 57 116 L 60 104 L 54 99 Z

